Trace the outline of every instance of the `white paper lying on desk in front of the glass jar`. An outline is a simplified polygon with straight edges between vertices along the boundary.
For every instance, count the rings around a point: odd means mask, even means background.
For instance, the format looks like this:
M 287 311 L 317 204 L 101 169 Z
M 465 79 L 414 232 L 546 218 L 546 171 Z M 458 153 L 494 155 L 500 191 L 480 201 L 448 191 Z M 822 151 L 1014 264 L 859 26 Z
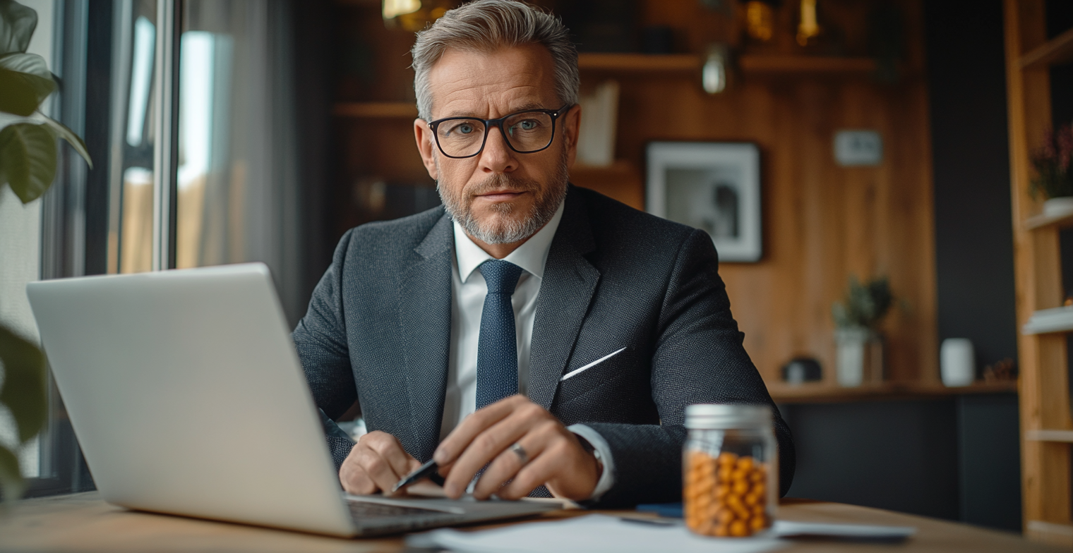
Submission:
M 564 521 L 532 522 L 481 532 L 438 529 L 415 534 L 407 544 L 440 547 L 459 553 L 762 553 L 784 548 L 774 538 L 705 538 L 684 525 L 661 527 L 623 522 L 605 514 L 589 514 Z

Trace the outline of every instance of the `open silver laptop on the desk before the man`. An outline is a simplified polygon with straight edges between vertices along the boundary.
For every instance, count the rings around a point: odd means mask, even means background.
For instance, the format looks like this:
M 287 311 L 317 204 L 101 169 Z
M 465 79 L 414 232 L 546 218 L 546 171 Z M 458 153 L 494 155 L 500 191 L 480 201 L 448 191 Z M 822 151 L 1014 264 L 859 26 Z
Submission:
M 561 508 L 343 494 L 263 264 L 35 282 L 27 295 L 108 503 L 344 537 Z

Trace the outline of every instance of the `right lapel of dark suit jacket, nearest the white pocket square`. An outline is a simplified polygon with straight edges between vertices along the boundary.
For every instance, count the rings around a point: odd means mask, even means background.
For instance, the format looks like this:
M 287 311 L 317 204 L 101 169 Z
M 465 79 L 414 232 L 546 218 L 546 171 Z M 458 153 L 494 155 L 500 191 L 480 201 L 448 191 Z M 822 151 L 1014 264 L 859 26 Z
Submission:
M 545 409 L 552 408 L 600 280 L 600 271 L 584 257 L 594 249 L 587 206 L 571 186 L 544 264 L 529 353 L 529 399 Z

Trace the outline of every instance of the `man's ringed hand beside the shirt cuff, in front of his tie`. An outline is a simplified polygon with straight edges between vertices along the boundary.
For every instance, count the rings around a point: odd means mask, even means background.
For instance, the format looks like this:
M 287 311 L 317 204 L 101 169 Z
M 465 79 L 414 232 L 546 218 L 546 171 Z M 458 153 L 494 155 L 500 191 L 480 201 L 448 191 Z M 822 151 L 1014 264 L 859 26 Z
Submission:
M 528 459 L 511 449 L 514 444 L 521 446 Z M 540 484 L 547 484 L 558 497 L 587 499 L 600 479 L 596 458 L 585 451 L 577 436 L 547 409 L 521 395 L 466 417 L 440 444 L 433 459 L 446 477 L 443 490 L 453 498 L 466 492 L 488 462 L 473 489 L 477 499 L 491 494 L 517 499 Z

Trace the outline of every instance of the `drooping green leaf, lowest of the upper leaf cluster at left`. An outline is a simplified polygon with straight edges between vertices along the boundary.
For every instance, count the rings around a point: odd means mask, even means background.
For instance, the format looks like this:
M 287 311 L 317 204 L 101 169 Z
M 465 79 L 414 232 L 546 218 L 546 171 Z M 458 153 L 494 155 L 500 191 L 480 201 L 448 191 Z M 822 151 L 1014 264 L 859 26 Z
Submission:
M 41 197 L 56 176 L 56 135 L 48 126 L 15 123 L 0 131 L 0 185 L 29 204 Z

